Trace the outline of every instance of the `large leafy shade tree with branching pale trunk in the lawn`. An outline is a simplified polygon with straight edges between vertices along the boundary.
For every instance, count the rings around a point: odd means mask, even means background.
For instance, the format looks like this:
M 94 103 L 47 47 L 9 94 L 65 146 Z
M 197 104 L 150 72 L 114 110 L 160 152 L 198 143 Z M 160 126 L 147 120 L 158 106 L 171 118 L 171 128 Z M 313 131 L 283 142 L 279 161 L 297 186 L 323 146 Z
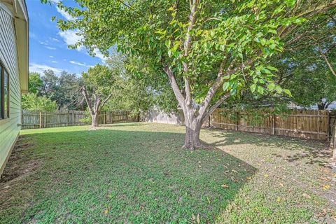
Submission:
M 78 8 L 58 4 L 74 18 L 58 20 L 59 28 L 82 36 L 73 48 L 107 53 L 117 45 L 156 76 L 167 77 L 185 116 L 184 146 L 190 149 L 202 147 L 202 123 L 229 97 L 248 89 L 281 93 L 269 58 L 283 50 L 283 39 L 304 18 L 335 5 L 328 0 L 76 2 Z

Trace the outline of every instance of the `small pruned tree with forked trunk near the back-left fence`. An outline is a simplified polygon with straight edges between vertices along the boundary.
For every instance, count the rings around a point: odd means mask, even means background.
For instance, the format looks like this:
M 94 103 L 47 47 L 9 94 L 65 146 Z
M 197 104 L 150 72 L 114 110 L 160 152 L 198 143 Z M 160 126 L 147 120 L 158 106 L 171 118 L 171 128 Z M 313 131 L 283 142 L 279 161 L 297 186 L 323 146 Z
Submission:
M 82 73 L 84 82 L 82 94 L 92 118 L 91 127 L 98 127 L 99 114 L 106 102 L 112 97 L 113 85 L 118 79 L 116 71 L 117 69 L 109 69 L 107 66 L 97 64 Z

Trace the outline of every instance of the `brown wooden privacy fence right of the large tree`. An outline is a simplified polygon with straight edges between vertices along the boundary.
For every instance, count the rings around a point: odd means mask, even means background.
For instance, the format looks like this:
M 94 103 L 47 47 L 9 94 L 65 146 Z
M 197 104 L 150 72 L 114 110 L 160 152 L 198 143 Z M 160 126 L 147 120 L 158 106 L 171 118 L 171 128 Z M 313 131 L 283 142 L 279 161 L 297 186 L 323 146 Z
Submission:
M 282 116 L 258 116 L 248 113 L 216 109 L 210 116 L 210 125 L 225 130 L 276 134 L 304 139 L 329 140 L 330 112 L 314 110 L 293 110 Z

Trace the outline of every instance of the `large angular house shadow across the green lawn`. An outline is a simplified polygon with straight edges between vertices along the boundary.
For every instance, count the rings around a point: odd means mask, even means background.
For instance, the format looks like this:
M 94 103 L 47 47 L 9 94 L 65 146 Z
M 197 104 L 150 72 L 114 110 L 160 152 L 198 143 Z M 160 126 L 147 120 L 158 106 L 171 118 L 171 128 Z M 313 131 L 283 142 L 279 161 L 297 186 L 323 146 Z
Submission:
M 43 166 L 1 193 L 0 223 L 190 223 L 197 215 L 213 223 L 257 172 L 223 151 L 183 150 L 179 133 L 25 136 L 34 144 L 25 162 Z

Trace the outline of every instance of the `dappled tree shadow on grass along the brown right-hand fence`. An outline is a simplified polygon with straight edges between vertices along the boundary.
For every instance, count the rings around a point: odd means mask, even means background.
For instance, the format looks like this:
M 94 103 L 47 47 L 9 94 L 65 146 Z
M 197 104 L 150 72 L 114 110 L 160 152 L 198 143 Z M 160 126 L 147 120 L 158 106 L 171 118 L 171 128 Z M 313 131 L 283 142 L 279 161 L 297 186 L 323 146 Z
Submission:
M 232 146 L 239 144 L 251 144 L 262 147 L 282 148 L 286 151 L 297 151 L 290 155 L 280 155 L 274 153 L 277 158 L 283 158 L 288 162 L 300 161 L 309 165 L 319 165 L 331 168 L 332 151 L 325 141 L 312 139 L 299 139 L 283 136 L 272 136 L 267 134 L 256 134 L 250 132 L 223 131 L 221 133 L 211 133 L 213 137 L 224 138 L 222 141 L 214 142 L 214 146 Z

